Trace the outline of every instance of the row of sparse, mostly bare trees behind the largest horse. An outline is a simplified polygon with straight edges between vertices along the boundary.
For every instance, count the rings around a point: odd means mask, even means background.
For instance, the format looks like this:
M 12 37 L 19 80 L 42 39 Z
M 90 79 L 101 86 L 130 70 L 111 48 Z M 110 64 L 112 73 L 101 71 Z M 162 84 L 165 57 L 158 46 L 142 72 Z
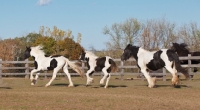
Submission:
M 197 23 L 176 25 L 165 18 L 146 21 L 130 18 L 122 23 L 105 26 L 103 34 L 110 37 L 110 41 L 106 42 L 109 50 L 106 54 L 115 58 L 120 57 L 120 49 L 124 49 L 129 43 L 157 50 L 171 48 L 174 42 L 184 42 L 188 44 L 190 51 L 200 51 L 200 28 Z M 116 53 L 113 54 L 113 51 Z

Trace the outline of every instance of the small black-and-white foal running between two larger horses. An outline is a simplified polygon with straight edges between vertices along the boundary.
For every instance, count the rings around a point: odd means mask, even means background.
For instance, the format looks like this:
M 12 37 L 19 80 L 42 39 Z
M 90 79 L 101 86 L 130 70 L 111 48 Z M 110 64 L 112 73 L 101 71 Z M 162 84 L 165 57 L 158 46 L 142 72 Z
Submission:
M 111 72 L 114 73 L 114 72 L 118 71 L 118 67 L 117 67 L 116 63 L 109 56 L 97 57 L 95 54 L 93 54 L 90 51 L 82 50 L 79 60 L 86 61 L 86 63 L 87 63 L 88 71 L 86 72 L 86 77 L 87 77 L 86 87 L 91 82 L 93 82 L 93 78 L 91 78 L 90 75 L 92 75 L 94 72 L 102 71 L 104 76 L 100 80 L 100 85 L 103 85 L 104 80 L 107 78 L 106 84 L 104 86 L 104 88 L 107 88 L 108 82 L 111 77 L 110 73 Z

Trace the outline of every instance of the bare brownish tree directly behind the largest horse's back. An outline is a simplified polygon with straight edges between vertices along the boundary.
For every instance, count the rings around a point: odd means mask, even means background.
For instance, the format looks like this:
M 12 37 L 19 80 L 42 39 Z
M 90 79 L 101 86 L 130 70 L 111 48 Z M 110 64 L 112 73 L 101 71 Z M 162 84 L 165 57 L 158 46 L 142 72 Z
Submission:
M 169 48 L 171 42 L 176 41 L 175 24 L 161 20 L 147 20 L 141 28 L 141 36 L 137 41 L 140 46 L 148 50 Z

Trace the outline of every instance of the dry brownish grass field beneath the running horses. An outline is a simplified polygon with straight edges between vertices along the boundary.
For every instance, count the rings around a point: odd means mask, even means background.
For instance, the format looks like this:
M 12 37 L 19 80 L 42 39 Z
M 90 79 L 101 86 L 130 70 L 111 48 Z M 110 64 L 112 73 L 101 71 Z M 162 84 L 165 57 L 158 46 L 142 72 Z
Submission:
M 72 77 L 75 87 L 59 77 L 49 87 L 49 79 L 35 86 L 24 78 L 3 78 L 0 82 L 1 110 L 197 110 L 200 108 L 200 78 L 181 80 L 180 88 L 171 81 L 157 81 L 148 88 L 142 80 L 117 80 L 112 76 L 109 88 L 99 86 L 100 76 L 85 87 L 86 78 Z

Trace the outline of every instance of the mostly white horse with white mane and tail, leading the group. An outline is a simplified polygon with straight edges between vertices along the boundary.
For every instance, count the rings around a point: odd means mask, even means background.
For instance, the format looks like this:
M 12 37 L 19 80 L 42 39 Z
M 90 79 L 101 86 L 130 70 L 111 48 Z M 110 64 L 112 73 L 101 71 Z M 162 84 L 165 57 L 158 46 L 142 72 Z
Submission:
M 79 69 L 75 63 L 70 62 L 69 59 L 65 58 L 61 55 L 54 55 L 54 56 L 46 56 L 45 52 L 42 50 L 43 46 L 38 45 L 35 47 L 26 47 L 24 58 L 27 59 L 29 57 L 34 58 L 34 65 L 35 69 L 33 69 L 30 73 L 30 80 L 31 85 L 35 85 L 36 81 L 39 77 L 40 71 L 44 70 L 53 70 L 53 75 L 51 80 L 45 85 L 45 87 L 48 87 L 51 82 L 56 78 L 57 72 L 63 68 L 63 71 L 67 75 L 69 79 L 69 85 L 68 87 L 73 87 L 73 82 L 71 80 L 71 75 L 68 72 L 68 65 L 77 73 L 80 74 L 80 76 L 83 77 L 82 71 Z M 37 73 L 35 75 L 35 78 L 33 77 L 33 74 Z

